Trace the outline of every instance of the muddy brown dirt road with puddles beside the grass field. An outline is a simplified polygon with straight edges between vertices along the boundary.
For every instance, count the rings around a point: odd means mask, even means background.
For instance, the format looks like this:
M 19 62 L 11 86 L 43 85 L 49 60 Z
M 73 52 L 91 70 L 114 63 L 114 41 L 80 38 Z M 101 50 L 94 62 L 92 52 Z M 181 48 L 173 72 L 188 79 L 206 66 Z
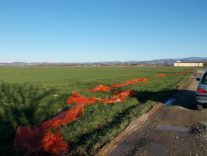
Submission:
M 207 135 L 191 131 L 191 126 L 198 122 L 207 122 L 207 109 L 196 110 L 196 86 L 195 77 L 192 77 L 190 85 L 176 95 L 173 106 L 156 105 L 144 122 L 137 120 L 130 133 L 118 136 L 109 144 L 113 148 L 103 150 L 99 155 L 206 156 Z

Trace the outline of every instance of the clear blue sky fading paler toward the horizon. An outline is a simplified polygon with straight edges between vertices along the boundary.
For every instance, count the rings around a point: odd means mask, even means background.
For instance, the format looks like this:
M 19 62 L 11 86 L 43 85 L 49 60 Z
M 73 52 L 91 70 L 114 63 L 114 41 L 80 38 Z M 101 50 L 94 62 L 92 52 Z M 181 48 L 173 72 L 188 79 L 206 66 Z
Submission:
M 0 62 L 207 56 L 206 0 L 0 0 Z

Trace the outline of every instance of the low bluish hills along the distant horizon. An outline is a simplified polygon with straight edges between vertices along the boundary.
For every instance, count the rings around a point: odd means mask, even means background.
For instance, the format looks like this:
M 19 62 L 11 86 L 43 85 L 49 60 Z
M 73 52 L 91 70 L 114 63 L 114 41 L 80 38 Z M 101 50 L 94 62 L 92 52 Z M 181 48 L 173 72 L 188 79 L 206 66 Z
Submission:
M 150 61 L 107 61 L 107 62 L 82 62 L 82 63 L 50 63 L 50 62 L 12 62 L 0 63 L 0 66 L 115 66 L 115 65 L 142 65 L 142 66 L 171 66 L 176 61 L 181 62 L 207 62 L 207 57 L 187 57 L 187 58 L 172 58 L 172 59 L 156 59 Z

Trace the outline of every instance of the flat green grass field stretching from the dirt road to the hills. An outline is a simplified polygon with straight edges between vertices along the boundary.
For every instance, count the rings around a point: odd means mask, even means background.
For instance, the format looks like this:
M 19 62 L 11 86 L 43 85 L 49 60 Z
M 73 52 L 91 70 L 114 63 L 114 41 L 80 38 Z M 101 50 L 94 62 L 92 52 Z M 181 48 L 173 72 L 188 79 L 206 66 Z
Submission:
M 62 126 L 70 155 L 94 155 L 137 116 L 146 112 L 154 102 L 164 102 L 176 92 L 181 81 L 194 68 L 174 67 L 0 67 L 0 155 L 18 155 L 12 150 L 15 128 L 35 125 L 68 109 L 66 99 L 71 91 L 85 93 L 98 84 L 111 85 L 125 80 L 146 77 L 147 84 L 123 87 L 138 91 L 137 97 L 122 103 L 87 106 L 79 120 Z M 159 73 L 167 77 L 157 78 Z

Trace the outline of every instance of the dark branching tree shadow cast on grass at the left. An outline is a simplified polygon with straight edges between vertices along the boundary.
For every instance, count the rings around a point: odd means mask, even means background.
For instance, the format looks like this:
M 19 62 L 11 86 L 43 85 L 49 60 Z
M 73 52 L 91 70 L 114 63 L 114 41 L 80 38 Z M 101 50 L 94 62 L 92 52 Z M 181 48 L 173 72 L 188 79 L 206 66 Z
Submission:
M 64 107 L 65 98 L 53 89 L 0 83 L 0 155 L 22 155 L 13 150 L 16 127 L 51 118 Z

